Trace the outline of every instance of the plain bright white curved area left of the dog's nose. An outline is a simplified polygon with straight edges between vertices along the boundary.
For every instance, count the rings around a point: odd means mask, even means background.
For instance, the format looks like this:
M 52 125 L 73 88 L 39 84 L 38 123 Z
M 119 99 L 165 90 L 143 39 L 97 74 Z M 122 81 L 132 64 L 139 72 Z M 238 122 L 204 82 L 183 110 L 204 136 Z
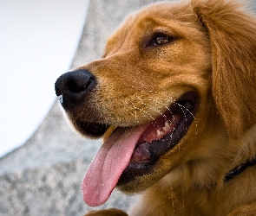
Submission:
M 0 157 L 25 143 L 69 70 L 89 0 L 0 1 Z

